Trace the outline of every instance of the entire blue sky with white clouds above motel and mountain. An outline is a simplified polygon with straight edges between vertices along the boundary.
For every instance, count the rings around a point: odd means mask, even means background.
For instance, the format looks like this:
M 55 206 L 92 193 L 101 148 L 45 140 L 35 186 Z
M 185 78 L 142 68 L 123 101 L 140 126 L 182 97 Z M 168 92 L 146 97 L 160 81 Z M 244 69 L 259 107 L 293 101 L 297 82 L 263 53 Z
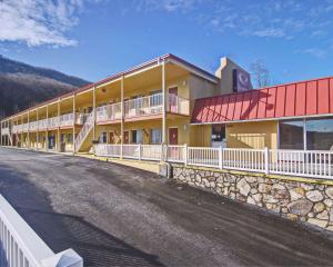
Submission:
M 211 72 L 260 59 L 273 82 L 333 75 L 333 0 L 2 0 L 0 53 L 97 81 L 171 52 Z

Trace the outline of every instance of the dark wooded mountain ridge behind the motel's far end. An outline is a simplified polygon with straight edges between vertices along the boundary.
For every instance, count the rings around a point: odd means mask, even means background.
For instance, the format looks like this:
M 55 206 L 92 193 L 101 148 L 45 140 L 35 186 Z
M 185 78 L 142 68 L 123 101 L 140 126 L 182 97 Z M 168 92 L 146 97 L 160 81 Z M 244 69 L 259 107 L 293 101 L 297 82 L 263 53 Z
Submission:
M 0 118 L 91 83 L 61 71 L 0 55 Z

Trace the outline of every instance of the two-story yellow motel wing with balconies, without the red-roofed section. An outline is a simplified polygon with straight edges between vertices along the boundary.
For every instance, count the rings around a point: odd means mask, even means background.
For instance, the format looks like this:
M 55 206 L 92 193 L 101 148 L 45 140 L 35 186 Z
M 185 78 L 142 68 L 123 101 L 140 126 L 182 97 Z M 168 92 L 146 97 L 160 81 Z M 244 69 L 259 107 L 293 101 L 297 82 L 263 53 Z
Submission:
M 212 75 L 165 55 L 1 121 L 1 144 L 89 151 L 94 142 L 202 146 L 191 125 L 195 99 L 230 93 L 241 67 L 221 59 Z

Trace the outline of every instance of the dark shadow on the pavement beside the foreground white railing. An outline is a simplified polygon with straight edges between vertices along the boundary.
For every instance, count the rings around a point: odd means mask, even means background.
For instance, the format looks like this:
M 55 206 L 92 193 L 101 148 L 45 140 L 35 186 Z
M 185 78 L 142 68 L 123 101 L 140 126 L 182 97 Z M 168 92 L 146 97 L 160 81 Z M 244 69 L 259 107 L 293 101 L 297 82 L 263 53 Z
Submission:
M 124 243 L 82 217 L 54 211 L 48 194 L 30 182 L 27 174 L 1 164 L 0 194 L 54 253 L 73 248 L 83 257 L 84 266 L 164 266 L 157 256 Z

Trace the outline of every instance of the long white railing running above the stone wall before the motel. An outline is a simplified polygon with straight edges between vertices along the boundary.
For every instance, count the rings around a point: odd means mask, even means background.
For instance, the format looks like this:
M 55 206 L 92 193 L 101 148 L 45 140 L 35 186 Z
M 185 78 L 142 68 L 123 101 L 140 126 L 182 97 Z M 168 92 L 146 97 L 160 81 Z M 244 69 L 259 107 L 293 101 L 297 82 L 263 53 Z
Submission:
M 333 178 L 333 151 L 162 145 L 94 145 L 97 156 L 179 162 L 220 169 Z

